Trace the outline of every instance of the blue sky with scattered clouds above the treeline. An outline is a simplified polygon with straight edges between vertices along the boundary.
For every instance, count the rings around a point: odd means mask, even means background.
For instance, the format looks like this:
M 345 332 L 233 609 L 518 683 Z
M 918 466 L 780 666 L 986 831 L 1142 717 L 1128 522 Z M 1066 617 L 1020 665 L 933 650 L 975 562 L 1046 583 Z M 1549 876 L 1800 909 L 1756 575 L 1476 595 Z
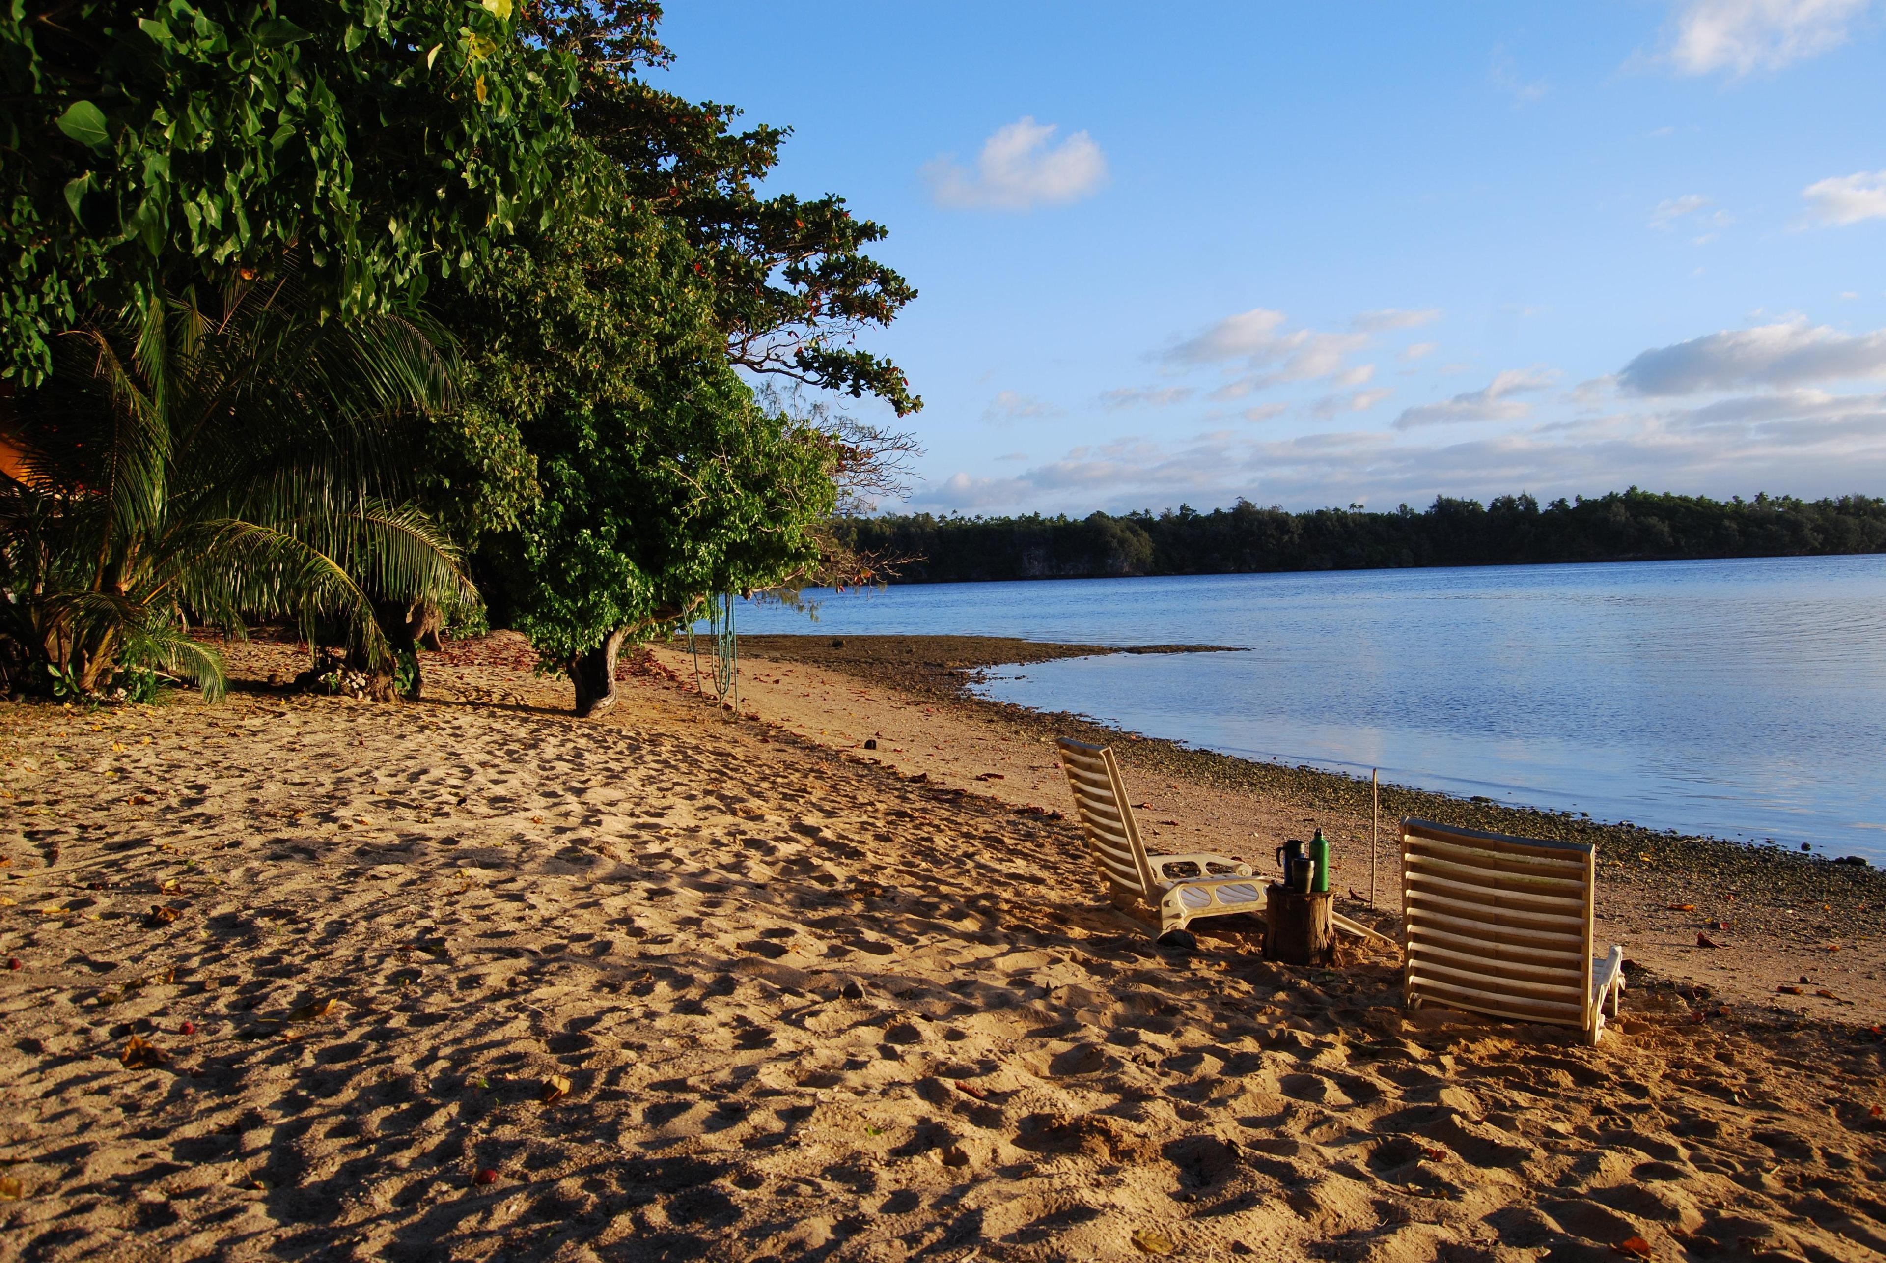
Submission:
M 1886 494 L 1886 0 L 671 4 L 918 298 L 886 511 Z

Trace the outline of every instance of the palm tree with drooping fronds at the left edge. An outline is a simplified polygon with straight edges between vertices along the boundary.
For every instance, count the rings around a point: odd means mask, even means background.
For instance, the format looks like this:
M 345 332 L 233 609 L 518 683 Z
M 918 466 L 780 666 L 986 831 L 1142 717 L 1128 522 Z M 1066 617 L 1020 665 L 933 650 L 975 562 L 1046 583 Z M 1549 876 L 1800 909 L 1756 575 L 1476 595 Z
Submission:
M 413 319 L 323 320 L 292 275 L 85 322 L 0 417 L 0 650 L 15 684 L 94 694 L 130 667 L 213 697 L 192 624 L 339 620 L 390 679 L 373 599 L 475 599 L 449 541 L 398 503 L 405 432 L 447 403 Z M 11 451 L 8 451 L 11 449 Z

